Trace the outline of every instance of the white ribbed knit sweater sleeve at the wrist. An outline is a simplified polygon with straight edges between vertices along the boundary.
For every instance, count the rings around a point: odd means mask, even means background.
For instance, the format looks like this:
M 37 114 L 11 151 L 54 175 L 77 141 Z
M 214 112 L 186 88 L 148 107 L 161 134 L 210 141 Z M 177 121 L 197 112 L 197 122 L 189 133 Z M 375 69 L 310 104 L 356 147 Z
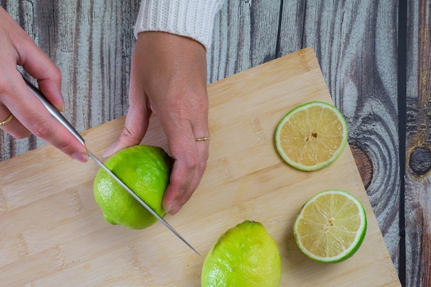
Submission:
M 224 0 L 142 0 L 134 34 L 161 31 L 194 39 L 209 50 L 215 14 Z

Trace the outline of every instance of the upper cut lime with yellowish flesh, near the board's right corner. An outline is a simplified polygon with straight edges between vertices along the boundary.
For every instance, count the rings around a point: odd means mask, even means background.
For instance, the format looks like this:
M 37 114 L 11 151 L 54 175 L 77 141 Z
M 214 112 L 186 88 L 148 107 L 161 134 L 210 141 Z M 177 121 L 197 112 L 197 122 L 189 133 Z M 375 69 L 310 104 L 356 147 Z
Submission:
M 337 160 L 346 147 L 347 131 L 346 120 L 335 106 L 316 101 L 305 103 L 280 120 L 275 146 L 292 167 L 315 171 Z

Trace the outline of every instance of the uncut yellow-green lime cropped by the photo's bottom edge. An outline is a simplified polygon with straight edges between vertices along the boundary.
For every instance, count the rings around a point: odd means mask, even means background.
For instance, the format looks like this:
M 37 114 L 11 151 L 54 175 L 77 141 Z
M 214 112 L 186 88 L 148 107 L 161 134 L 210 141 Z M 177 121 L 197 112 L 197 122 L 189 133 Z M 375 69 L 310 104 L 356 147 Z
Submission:
M 212 246 L 202 266 L 202 287 L 275 287 L 282 276 L 277 243 L 259 222 L 230 228 Z

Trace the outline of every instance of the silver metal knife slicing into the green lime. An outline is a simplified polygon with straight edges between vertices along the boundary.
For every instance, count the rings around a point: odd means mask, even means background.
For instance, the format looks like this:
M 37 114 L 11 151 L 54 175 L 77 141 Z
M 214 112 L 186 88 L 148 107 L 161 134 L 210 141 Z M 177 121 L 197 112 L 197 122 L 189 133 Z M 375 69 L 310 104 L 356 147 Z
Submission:
M 66 118 L 63 116 L 63 114 L 61 114 L 60 111 L 58 109 L 56 109 L 56 107 L 54 107 L 54 105 L 52 105 L 52 103 L 42 94 L 42 92 L 39 89 L 37 89 L 36 87 L 34 87 L 34 85 L 32 83 L 30 83 L 30 81 L 28 81 L 28 79 L 26 79 L 24 76 L 23 76 L 23 79 L 24 79 L 25 84 L 27 85 L 28 89 L 30 89 L 30 91 L 34 94 L 34 96 L 36 96 L 37 98 L 39 98 L 39 100 L 41 100 L 43 105 L 45 105 L 45 107 L 48 109 L 48 111 L 50 111 L 50 114 L 54 118 L 56 118 L 56 120 L 58 120 L 68 131 L 70 131 L 70 133 L 72 135 L 74 135 L 75 138 L 77 138 L 81 142 L 81 144 L 83 144 L 83 146 L 86 147 L 84 138 L 78 133 L 78 131 L 76 131 L 76 129 L 72 126 L 72 124 L 69 123 L 68 120 L 66 120 Z M 165 225 L 170 231 L 172 231 L 172 233 L 174 233 L 176 235 L 176 237 L 180 238 L 180 240 L 182 240 L 182 242 L 184 242 L 187 246 L 189 246 L 191 248 L 191 250 L 196 252 L 196 254 L 200 255 L 198 253 L 198 251 L 196 251 L 196 249 L 193 248 L 193 246 L 191 246 L 189 244 L 189 242 L 187 242 L 174 229 L 174 227 L 172 227 L 169 223 L 167 223 L 167 221 L 164 220 L 162 217 L 160 217 L 160 215 L 158 215 L 153 209 L 151 209 L 151 207 L 148 206 L 148 204 L 146 204 L 143 200 L 141 200 L 138 197 L 138 195 L 136 195 L 136 193 L 134 193 L 134 191 L 132 191 L 132 189 L 129 189 L 129 187 L 127 187 L 127 185 L 124 184 L 124 182 L 122 182 L 114 173 L 112 173 L 112 171 L 109 171 L 109 169 L 107 169 L 107 167 L 105 167 L 105 165 L 100 160 L 98 160 L 98 158 L 96 158 L 96 156 L 94 156 L 94 153 L 92 153 L 89 149 L 87 149 L 87 152 L 88 152 L 88 156 L 90 156 L 90 158 L 92 158 L 92 160 L 94 160 L 94 162 L 96 162 L 96 164 L 99 167 L 101 167 L 104 171 L 106 171 L 106 173 L 109 174 L 109 176 L 111 176 L 116 182 L 118 182 L 118 184 L 120 184 L 121 187 L 123 187 L 128 193 L 130 193 L 130 195 L 132 195 L 136 200 L 138 200 L 138 202 L 142 206 L 144 206 L 145 209 L 147 209 L 147 211 L 149 211 L 152 215 L 154 215 L 158 219 L 158 221 L 162 222 L 162 224 Z

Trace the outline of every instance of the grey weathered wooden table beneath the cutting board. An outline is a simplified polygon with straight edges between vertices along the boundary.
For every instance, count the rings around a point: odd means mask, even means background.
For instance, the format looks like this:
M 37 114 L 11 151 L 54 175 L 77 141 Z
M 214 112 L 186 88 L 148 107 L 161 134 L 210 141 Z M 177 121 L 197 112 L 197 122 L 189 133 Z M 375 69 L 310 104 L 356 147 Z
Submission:
M 0 0 L 63 73 L 78 131 L 127 113 L 139 0 Z M 313 47 L 404 286 L 431 286 L 431 1 L 229 0 L 208 81 Z M 44 145 L 0 132 L 0 160 Z

